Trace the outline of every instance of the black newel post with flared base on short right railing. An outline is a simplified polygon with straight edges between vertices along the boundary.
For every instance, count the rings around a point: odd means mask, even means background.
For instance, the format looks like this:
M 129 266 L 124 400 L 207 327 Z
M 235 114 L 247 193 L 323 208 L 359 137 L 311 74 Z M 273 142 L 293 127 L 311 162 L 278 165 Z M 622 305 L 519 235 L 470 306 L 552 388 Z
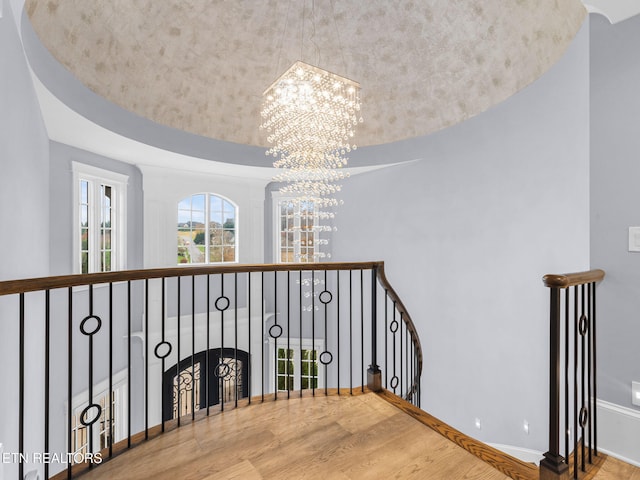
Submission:
M 560 455 L 560 289 L 550 290 L 549 451 L 540 462 L 540 480 L 565 480 L 569 467 Z

